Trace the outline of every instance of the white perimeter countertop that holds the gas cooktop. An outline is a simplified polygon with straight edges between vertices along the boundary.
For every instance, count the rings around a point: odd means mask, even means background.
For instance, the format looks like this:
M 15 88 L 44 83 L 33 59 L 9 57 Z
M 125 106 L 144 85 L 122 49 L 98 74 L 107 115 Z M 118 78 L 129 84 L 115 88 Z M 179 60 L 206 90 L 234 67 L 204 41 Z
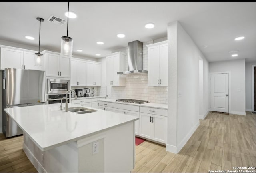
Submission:
M 160 103 L 137 104 L 137 103 L 120 102 L 120 101 L 116 101 L 116 99 L 99 99 L 98 101 L 107 101 L 110 103 L 120 103 L 120 104 L 126 104 L 126 105 L 136 105 L 136 106 L 143 106 L 143 107 L 154 107 L 154 108 L 159 108 L 159 109 L 168 109 L 168 104 L 160 104 Z

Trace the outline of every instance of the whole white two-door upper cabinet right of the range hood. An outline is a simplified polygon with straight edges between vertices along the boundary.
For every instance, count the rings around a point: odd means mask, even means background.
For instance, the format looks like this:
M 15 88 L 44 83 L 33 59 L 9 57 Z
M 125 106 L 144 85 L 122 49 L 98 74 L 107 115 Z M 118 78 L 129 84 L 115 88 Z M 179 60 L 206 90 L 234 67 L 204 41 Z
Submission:
M 167 40 L 148 47 L 148 86 L 168 86 Z

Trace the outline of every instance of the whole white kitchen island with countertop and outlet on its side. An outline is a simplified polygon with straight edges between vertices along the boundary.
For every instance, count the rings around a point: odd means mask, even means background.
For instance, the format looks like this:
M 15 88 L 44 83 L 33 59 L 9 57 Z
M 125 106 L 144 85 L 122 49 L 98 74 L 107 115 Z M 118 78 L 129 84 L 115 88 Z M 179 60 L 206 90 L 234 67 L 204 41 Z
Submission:
M 77 114 L 59 107 L 57 103 L 4 109 L 23 130 L 23 150 L 38 172 L 134 169 L 138 117 L 100 109 Z M 77 106 L 68 103 L 68 107 Z

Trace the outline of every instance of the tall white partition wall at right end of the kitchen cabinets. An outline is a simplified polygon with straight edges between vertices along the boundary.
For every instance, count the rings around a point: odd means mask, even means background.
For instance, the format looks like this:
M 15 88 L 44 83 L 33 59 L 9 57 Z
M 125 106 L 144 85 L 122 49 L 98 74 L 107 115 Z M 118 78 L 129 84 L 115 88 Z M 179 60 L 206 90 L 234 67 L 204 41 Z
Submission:
M 199 60 L 208 95 L 208 61 L 179 22 L 168 24 L 168 136 L 166 150 L 178 153 L 199 126 Z M 202 111 L 208 112 L 208 97 Z M 175 128 L 176 127 L 176 128 Z

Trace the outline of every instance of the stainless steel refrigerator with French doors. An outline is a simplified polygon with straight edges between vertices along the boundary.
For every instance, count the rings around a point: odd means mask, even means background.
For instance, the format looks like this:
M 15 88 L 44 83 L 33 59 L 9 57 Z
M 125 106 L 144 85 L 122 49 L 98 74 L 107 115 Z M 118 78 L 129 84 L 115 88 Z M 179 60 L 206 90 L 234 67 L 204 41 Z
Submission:
M 3 133 L 5 137 L 22 135 L 23 131 L 4 108 L 45 104 L 46 74 L 41 70 L 6 68 L 3 71 Z

